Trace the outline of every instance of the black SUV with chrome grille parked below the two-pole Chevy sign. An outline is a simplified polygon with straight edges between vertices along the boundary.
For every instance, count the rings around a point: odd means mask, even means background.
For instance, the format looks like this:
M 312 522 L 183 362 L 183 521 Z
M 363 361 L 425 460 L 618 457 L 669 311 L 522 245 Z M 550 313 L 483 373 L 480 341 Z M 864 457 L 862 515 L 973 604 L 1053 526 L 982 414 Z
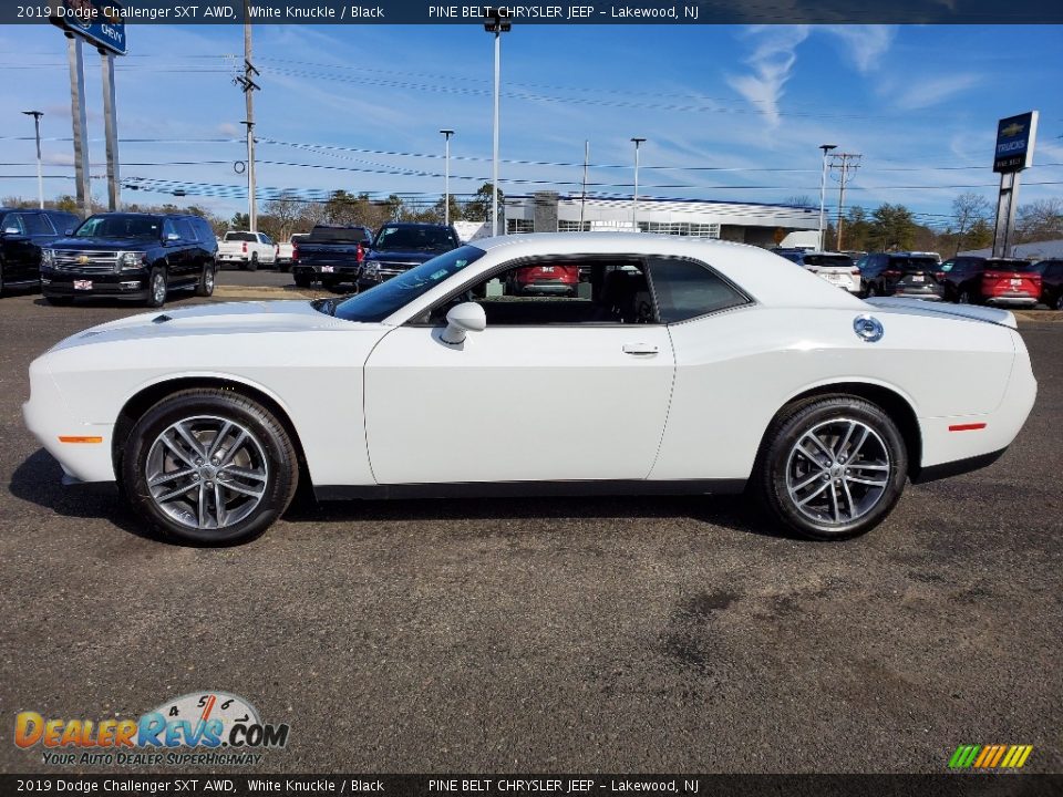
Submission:
M 43 250 L 41 290 L 52 304 L 111 297 L 162 307 L 175 288 L 214 293 L 217 251 L 199 216 L 97 214 Z

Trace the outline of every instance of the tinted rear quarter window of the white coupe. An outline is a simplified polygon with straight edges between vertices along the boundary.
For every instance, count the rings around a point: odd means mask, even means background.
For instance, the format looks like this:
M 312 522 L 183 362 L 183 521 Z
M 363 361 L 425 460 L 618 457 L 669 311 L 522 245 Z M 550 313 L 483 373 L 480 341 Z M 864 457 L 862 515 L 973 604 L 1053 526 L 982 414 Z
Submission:
M 749 297 L 695 260 L 654 258 L 650 260 L 650 281 L 663 323 L 750 303 Z

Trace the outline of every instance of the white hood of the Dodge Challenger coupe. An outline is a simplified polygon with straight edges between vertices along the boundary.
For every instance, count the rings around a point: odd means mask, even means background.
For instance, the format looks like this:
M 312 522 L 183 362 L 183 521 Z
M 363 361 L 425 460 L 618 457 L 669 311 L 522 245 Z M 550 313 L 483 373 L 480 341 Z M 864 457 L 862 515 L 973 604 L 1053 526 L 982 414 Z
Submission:
M 51 351 L 80 345 L 155 338 L 192 338 L 267 332 L 302 332 L 337 328 L 381 329 L 333 318 L 309 301 L 223 302 L 180 310 L 156 310 L 93 327 L 60 341 Z

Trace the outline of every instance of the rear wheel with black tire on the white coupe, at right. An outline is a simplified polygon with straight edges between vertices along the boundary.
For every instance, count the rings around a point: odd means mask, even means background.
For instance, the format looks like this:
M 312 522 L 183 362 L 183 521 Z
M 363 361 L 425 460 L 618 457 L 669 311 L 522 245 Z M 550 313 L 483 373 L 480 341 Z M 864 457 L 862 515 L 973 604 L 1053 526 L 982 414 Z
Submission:
M 830 458 L 813 445 L 813 433 L 826 441 Z M 822 459 L 802 456 L 798 443 Z M 751 493 L 785 528 L 815 540 L 843 540 L 886 519 L 907 474 L 904 438 L 881 407 L 852 395 L 824 396 L 775 417 L 753 466 Z

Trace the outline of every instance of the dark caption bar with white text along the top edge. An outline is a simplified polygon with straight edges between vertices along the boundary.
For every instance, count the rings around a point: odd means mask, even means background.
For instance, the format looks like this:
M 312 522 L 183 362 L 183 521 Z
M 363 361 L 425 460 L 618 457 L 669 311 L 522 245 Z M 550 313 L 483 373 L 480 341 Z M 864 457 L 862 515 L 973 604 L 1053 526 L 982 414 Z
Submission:
M 471 24 L 494 13 L 514 24 L 1029 24 L 1063 23 L 1059 0 L 630 0 L 629 2 L 417 2 L 381 0 L 252 0 L 255 24 Z M 120 24 L 234 24 L 245 19 L 244 0 L 11 0 L 0 24 L 48 22 L 92 29 L 105 46 L 117 46 Z M 123 33 L 124 35 L 124 33 Z M 122 45 L 124 46 L 124 45 Z

